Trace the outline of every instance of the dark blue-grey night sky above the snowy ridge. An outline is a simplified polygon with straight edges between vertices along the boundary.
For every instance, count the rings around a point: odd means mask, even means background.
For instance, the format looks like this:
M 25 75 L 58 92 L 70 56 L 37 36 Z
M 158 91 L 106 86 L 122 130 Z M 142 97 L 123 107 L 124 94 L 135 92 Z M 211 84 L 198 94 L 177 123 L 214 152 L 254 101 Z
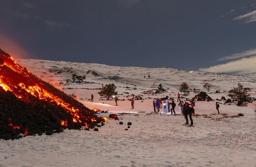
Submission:
M 0 0 L 0 22 L 22 58 L 194 70 L 256 48 L 256 0 Z

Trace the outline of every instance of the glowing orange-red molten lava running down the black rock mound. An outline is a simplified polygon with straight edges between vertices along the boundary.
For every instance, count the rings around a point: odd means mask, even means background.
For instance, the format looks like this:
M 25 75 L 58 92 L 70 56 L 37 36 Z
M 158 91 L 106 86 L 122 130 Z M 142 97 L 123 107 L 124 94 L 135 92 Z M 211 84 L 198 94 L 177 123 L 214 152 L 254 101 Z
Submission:
M 17 98 L 28 104 L 35 105 L 35 102 L 32 101 L 32 97 L 35 97 L 53 106 L 63 108 L 64 111 L 72 115 L 72 122 L 67 119 L 58 121 L 64 128 L 68 127 L 71 123 L 94 127 L 97 123 L 104 120 L 104 118 L 97 117 L 94 111 L 67 96 L 64 92 L 37 78 L 26 68 L 17 64 L 11 56 L 2 50 L 0 50 L 0 86 L 6 92 L 12 92 Z M 100 111 L 99 109 L 97 110 Z M 13 129 L 24 129 L 24 127 L 14 126 L 14 124 L 15 122 L 9 121 L 8 125 Z M 24 135 L 28 135 L 27 128 Z

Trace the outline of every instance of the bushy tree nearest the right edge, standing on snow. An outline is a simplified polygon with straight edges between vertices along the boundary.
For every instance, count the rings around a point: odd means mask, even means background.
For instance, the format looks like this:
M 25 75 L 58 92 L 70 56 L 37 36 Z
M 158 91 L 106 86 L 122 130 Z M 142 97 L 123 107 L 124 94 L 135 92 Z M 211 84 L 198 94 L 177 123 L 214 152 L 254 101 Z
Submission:
M 228 94 L 228 96 L 237 101 L 237 106 L 240 106 L 243 102 L 251 102 L 250 94 L 248 94 L 250 90 L 250 88 L 244 88 L 241 83 L 238 83 L 237 87 L 229 91 L 231 94 Z

